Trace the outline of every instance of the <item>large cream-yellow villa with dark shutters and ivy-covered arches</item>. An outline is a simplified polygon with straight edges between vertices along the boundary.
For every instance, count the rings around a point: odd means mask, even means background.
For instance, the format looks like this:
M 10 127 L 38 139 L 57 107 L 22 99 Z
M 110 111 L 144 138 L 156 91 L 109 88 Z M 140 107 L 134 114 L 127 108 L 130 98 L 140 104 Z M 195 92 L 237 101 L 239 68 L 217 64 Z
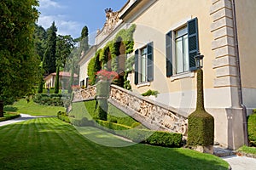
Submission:
M 79 82 L 93 85 L 96 71 L 116 71 L 120 88 L 157 91 L 155 102 L 188 117 L 196 105 L 194 57 L 201 53 L 215 141 L 237 149 L 247 142 L 246 116 L 256 108 L 255 8 L 254 0 L 128 0 L 117 12 L 108 8 L 96 44 L 80 59 Z

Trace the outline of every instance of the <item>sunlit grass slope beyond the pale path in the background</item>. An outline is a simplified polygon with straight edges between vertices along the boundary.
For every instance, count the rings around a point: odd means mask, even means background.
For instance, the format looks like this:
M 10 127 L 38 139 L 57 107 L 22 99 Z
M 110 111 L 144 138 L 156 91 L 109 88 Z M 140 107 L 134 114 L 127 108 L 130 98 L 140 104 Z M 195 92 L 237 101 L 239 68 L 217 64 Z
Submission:
M 7 105 L 4 111 L 16 111 L 32 116 L 56 116 L 58 111 L 65 111 L 64 107 L 38 105 L 30 100 L 29 103 L 26 99 L 20 99 L 14 105 Z

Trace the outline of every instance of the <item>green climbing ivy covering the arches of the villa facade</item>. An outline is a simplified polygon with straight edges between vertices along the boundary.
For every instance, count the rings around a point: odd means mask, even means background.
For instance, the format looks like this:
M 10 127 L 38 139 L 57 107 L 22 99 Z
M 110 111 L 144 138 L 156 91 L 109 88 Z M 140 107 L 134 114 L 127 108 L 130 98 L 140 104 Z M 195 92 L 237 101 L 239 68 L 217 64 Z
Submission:
M 136 25 L 132 25 L 127 30 L 120 30 L 114 37 L 113 41 L 108 42 L 104 48 L 98 49 L 95 56 L 90 59 L 90 63 L 88 65 L 87 72 L 90 78 L 90 85 L 94 85 L 96 83 L 96 72 L 104 69 L 118 72 L 120 74 L 119 80 L 115 81 L 115 83 L 123 88 L 131 88 L 131 86 L 128 84 L 129 82 L 127 81 L 127 74 L 129 72 L 122 71 L 122 69 L 125 70 L 126 68 L 122 68 L 122 65 L 119 65 L 119 60 L 124 57 L 122 55 L 131 54 L 133 52 L 133 33 L 135 29 Z M 125 54 L 120 54 L 120 48 L 122 46 L 125 46 Z M 109 59 L 109 56 L 111 60 Z M 130 60 L 130 64 L 131 63 L 132 62 Z M 109 65 L 110 68 L 108 68 Z

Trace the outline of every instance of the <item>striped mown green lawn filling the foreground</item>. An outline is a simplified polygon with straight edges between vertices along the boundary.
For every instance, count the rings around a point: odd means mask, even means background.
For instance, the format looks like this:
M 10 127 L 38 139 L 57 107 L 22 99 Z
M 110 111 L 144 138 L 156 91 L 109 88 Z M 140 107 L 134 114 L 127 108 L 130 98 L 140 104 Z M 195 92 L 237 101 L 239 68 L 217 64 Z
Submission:
M 104 135 L 93 134 L 114 138 Z M 102 146 L 56 117 L 0 127 L 0 148 L 0 169 L 228 169 L 222 159 L 194 150 L 146 144 Z

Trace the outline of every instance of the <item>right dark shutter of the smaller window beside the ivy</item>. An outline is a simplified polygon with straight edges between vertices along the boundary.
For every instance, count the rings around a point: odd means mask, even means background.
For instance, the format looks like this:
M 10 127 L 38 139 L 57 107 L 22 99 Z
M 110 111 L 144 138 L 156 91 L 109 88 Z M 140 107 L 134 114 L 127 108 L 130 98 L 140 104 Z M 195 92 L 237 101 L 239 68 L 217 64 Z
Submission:
M 149 42 L 147 45 L 147 56 L 148 56 L 148 82 L 152 82 L 154 80 L 154 47 L 153 42 Z

